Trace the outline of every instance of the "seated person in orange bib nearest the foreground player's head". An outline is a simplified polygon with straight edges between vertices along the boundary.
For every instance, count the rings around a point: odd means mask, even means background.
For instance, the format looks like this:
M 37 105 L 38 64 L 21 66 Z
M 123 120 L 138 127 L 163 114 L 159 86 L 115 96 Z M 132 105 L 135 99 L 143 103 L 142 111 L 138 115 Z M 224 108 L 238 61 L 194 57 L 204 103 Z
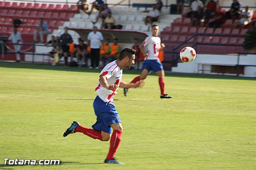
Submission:
M 117 44 L 118 39 L 115 38 L 113 41 L 113 44 L 111 45 L 111 47 L 108 49 L 108 51 L 106 53 L 108 53 L 108 55 L 105 55 L 103 57 L 103 66 L 106 66 L 106 60 L 110 59 L 110 62 L 118 59 L 119 57 L 119 52 L 120 52 L 120 46 Z

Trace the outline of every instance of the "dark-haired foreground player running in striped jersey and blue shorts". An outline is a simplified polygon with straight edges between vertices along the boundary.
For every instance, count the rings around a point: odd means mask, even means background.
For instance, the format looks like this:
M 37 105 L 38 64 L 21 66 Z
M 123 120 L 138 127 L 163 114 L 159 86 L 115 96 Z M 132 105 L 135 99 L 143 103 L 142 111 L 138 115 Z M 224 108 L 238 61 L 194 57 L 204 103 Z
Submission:
M 134 64 L 136 50 L 132 48 L 124 48 L 120 51 L 119 58 L 104 67 L 100 73 L 100 79 L 95 91 L 97 97 L 94 100 L 93 107 L 97 117 L 97 121 L 92 128 L 81 126 L 74 121 L 71 126 L 64 132 L 63 136 L 75 132 L 81 132 L 91 138 L 101 141 L 108 141 L 110 139 L 110 148 L 108 156 L 104 160 L 105 163 L 110 164 L 124 164 L 118 162 L 114 156 L 116 150 L 121 142 L 122 125 L 121 119 L 113 104 L 114 95 L 118 92 L 118 88 L 139 87 L 140 81 L 136 83 L 126 83 L 122 81 L 122 70 L 130 68 Z M 113 128 L 113 134 L 111 130 Z

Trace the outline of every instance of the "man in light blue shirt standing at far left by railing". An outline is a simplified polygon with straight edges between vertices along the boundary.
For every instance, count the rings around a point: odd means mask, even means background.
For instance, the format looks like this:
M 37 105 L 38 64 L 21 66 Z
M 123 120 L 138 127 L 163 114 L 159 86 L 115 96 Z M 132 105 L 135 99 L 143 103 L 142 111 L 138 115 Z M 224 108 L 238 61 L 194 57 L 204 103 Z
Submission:
M 14 32 L 10 35 L 9 40 L 12 40 L 12 43 L 14 44 L 14 49 L 16 52 L 18 52 L 16 54 L 16 62 L 20 62 L 20 48 L 22 47 L 22 45 L 19 45 L 22 43 L 22 38 L 20 33 L 17 31 L 17 28 L 14 28 Z

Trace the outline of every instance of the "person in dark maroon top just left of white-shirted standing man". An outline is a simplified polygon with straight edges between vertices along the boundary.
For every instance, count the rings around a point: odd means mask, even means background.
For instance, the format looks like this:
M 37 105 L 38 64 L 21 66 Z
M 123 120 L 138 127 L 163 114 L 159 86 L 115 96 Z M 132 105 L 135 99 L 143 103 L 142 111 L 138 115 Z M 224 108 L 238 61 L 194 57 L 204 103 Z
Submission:
M 79 44 L 77 45 L 77 53 L 76 53 L 76 61 L 77 61 L 78 65 L 80 67 L 81 66 L 88 67 L 88 65 L 87 65 L 87 61 L 88 61 L 87 54 L 88 54 L 87 45 L 84 44 L 83 40 L 80 40 Z M 82 62 L 80 62 L 80 59 L 82 59 Z

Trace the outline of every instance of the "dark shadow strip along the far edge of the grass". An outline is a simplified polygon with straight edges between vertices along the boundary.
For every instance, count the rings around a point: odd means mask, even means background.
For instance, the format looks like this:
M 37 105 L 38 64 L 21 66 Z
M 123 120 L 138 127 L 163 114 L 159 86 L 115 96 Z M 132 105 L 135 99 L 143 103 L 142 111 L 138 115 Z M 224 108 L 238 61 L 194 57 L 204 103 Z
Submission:
M 52 66 L 43 63 L 16 63 L 16 62 L 0 62 L 0 67 L 6 68 L 18 68 L 18 69 L 43 69 L 43 70 L 53 70 L 53 71 L 74 71 L 74 72 L 84 72 L 84 73 L 100 73 L 102 69 L 88 69 L 84 67 L 64 67 L 63 65 Z M 0 69 L 1 71 L 1 69 Z M 140 70 L 124 69 L 124 74 L 140 75 Z M 156 76 L 155 73 L 150 75 Z M 207 74 L 196 74 L 196 73 L 168 73 L 166 71 L 165 77 L 188 77 L 188 78 L 202 78 L 202 79 L 248 79 L 256 80 L 253 77 L 237 77 L 228 75 L 207 75 Z

